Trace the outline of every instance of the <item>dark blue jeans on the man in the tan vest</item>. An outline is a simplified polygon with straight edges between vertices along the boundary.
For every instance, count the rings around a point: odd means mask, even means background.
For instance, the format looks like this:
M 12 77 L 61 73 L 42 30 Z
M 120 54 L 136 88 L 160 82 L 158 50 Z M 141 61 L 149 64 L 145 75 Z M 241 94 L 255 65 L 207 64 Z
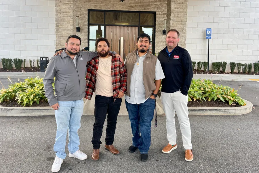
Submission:
M 154 117 L 155 100 L 131 104 L 125 100 L 132 130 L 132 145 L 138 147 L 141 154 L 147 154 L 151 145 L 151 121 Z M 141 136 L 140 136 L 141 133 Z

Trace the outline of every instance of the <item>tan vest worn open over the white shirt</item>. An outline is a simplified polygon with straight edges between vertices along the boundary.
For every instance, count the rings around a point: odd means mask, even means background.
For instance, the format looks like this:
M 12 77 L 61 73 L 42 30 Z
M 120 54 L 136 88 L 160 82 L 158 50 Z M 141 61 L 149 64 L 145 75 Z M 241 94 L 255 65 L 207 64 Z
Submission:
M 125 67 L 127 69 L 127 92 L 126 95 L 130 97 L 130 77 L 133 71 L 134 65 L 137 62 L 138 49 L 132 53 L 129 53 L 126 58 Z M 157 64 L 157 56 L 149 53 L 146 54 L 146 58 L 143 61 L 143 80 L 146 90 L 146 99 L 150 97 L 153 91 L 156 89 L 155 85 L 155 67 Z M 138 77 L 138 76 L 137 76 Z M 134 87 L 134 86 L 133 86 Z

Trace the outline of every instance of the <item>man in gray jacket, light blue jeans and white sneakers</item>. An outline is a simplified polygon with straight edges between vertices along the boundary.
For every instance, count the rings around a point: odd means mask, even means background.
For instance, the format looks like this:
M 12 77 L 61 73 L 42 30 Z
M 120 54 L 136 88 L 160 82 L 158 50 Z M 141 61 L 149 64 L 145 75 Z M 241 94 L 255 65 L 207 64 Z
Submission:
M 45 95 L 49 105 L 55 110 L 57 123 L 54 151 L 56 158 L 52 172 L 58 172 L 66 157 L 66 134 L 68 130 L 69 157 L 84 160 L 87 155 L 79 150 L 78 129 L 83 114 L 83 97 L 85 96 L 85 70 L 87 62 L 96 57 L 96 52 L 80 51 L 81 39 L 71 35 L 66 40 L 66 49 L 52 57 L 43 78 Z M 111 52 L 116 54 L 116 52 Z M 117 57 L 120 57 L 116 54 Z M 55 93 L 52 83 L 55 77 Z

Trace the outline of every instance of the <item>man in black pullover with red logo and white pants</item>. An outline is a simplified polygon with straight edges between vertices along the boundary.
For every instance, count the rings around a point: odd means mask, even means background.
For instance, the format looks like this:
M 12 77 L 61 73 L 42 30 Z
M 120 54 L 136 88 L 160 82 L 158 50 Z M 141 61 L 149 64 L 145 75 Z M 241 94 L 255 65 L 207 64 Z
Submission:
M 175 111 L 182 132 L 182 143 L 185 149 L 185 160 L 193 161 L 191 127 L 188 118 L 188 90 L 193 78 L 192 60 L 188 51 L 178 46 L 180 33 L 171 29 L 166 35 L 165 49 L 159 52 L 165 78 L 162 80 L 161 101 L 166 116 L 167 140 L 169 144 L 162 150 L 170 153 L 177 148 Z

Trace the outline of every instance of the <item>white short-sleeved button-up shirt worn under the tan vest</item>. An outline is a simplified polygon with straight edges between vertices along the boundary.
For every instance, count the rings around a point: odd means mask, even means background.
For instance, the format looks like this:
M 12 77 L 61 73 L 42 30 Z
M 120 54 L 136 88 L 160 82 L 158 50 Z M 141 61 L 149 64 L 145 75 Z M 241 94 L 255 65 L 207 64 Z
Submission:
M 144 80 L 143 80 L 143 62 L 146 58 L 146 54 L 139 57 L 137 52 L 137 62 L 134 65 L 130 76 L 130 97 L 125 95 L 125 99 L 128 103 L 131 104 L 140 104 L 144 103 L 146 99 L 146 90 L 144 87 Z M 126 60 L 125 60 L 126 62 Z M 125 63 L 124 62 L 124 63 Z M 137 65 L 137 63 L 139 63 Z M 157 59 L 157 63 L 155 66 L 155 80 L 160 80 L 165 78 L 163 73 L 163 69 L 161 67 L 160 61 Z

